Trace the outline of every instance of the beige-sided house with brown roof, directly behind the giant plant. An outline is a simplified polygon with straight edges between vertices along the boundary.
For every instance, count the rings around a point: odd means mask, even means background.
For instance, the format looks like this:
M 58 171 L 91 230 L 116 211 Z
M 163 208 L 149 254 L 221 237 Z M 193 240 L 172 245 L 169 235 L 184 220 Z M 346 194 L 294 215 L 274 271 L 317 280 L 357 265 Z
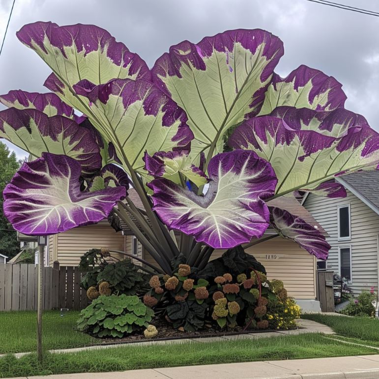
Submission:
M 142 208 L 141 200 L 134 189 L 129 189 L 129 197 Z M 269 205 L 277 206 L 304 218 L 308 223 L 315 225 L 324 232 L 321 225 L 310 215 L 294 197 L 282 197 L 272 200 Z M 46 255 L 49 265 L 59 261 L 62 266 L 77 266 L 80 257 L 91 248 L 108 247 L 136 255 L 146 261 L 155 264 L 151 255 L 133 236 L 126 225 L 122 225 L 122 232 L 116 232 L 103 220 L 95 225 L 81 226 L 50 236 Z M 268 229 L 266 237 L 274 234 Z M 246 250 L 253 254 L 266 268 L 269 279 L 283 280 L 290 296 L 305 311 L 320 311 L 320 302 L 316 300 L 316 258 L 303 250 L 298 244 L 281 237 L 273 238 L 262 244 L 254 245 Z M 223 251 L 216 250 L 211 259 L 219 257 Z M 114 254 L 118 259 L 123 259 L 122 254 Z M 137 264 L 138 261 L 135 260 Z

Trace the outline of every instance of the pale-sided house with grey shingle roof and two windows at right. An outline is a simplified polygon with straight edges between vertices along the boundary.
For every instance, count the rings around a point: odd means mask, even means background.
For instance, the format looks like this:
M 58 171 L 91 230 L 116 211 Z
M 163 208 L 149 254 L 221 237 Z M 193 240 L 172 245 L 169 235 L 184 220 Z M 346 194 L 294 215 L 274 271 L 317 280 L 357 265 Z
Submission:
M 345 198 L 308 193 L 304 207 L 326 230 L 332 246 L 326 269 L 344 277 L 354 295 L 378 289 L 379 171 L 360 171 L 336 178 Z

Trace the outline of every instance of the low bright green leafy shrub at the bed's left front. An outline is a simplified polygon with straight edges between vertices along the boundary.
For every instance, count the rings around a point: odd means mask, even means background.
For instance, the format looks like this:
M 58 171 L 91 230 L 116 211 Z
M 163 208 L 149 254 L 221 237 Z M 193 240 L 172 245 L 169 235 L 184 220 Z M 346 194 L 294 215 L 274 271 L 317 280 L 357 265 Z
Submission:
M 80 313 L 77 328 L 97 337 L 123 337 L 147 327 L 154 311 L 137 296 L 99 296 Z

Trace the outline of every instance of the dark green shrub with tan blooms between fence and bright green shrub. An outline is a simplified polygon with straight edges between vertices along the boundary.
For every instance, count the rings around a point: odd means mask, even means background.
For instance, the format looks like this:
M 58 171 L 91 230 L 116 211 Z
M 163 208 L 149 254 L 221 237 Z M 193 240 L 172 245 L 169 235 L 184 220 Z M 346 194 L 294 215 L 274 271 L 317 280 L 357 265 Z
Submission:
M 99 285 L 102 282 L 109 283 L 111 293 L 115 294 L 141 295 L 148 290 L 149 274 L 141 272 L 130 259 L 107 261 L 105 258 L 109 255 L 107 249 L 91 249 L 81 257 L 80 269 L 89 270 L 81 281 L 86 291 L 95 287 L 101 295 Z

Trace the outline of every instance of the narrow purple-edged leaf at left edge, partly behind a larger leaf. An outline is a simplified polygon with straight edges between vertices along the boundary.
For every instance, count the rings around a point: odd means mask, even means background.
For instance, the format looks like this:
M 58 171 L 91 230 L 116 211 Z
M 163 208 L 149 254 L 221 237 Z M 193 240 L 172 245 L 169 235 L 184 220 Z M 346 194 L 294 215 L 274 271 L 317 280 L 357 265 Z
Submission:
M 74 109 L 63 103 L 55 93 L 27 92 L 21 89 L 0 96 L 0 103 L 8 108 L 37 109 L 47 116 L 74 117 Z

